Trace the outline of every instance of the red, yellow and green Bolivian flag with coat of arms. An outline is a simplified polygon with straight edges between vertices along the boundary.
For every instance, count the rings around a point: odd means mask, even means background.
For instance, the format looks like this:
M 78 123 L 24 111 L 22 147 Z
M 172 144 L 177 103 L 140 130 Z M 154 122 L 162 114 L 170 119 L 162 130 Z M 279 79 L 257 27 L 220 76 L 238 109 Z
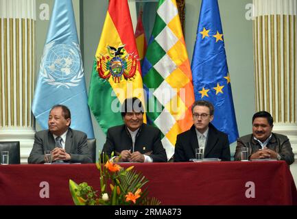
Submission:
M 88 94 L 88 105 L 105 133 L 109 127 L 123 124 L 121 103 L 133 96 L 145 105 L 128 2 L 110 0 Z

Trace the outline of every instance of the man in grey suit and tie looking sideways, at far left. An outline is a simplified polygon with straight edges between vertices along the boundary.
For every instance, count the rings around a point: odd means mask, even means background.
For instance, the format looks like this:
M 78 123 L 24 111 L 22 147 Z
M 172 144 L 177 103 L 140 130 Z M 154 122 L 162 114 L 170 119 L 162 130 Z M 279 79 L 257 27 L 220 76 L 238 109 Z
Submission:
M 70 124 L 71 114 L 68 107 L 54 105 L 49 112 L 49 129 L 35 133 L 28 164 L 45 163 L 45 151 L 51 151 L 53 162 L 91 163 L 86 134 L 71 129 Z

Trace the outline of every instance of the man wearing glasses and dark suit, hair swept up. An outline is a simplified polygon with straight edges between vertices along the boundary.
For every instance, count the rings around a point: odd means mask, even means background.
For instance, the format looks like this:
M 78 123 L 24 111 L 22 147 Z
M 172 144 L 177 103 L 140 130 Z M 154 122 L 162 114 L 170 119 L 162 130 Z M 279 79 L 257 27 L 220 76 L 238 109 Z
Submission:
M 195 101 L 192 105 L 193 126 L 176 139 L 174 162 L 189 162 L 195 158 L 195 149 L 204 148 L 204 158 L 230 161 L 228 136 L 212 124 L 214 107 L 208 101 Z

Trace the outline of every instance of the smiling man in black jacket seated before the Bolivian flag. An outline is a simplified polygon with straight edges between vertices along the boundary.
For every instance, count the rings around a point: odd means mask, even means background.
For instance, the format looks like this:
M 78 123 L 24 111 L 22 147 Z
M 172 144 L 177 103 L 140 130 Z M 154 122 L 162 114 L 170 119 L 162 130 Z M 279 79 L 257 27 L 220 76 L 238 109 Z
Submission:
M 110 157 L 114 152 L 115 162 L 167 162 L 161 131 L 143 123 L 143 112 L 139 99 L 126 99 L 121 110 L 125 124 L 108 129 L 102 153 Z

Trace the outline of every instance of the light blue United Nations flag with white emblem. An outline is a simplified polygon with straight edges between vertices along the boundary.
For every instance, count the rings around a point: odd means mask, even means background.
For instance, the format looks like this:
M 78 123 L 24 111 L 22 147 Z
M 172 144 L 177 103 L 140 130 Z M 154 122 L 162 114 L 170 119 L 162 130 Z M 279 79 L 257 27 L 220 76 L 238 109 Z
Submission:
M 32 112 L 43 129 L 48 128 L 49 110 L 56 104 L 69 107 L 73 129 L 94 138 L 71 0 L 54 3 L 40 63 Z

